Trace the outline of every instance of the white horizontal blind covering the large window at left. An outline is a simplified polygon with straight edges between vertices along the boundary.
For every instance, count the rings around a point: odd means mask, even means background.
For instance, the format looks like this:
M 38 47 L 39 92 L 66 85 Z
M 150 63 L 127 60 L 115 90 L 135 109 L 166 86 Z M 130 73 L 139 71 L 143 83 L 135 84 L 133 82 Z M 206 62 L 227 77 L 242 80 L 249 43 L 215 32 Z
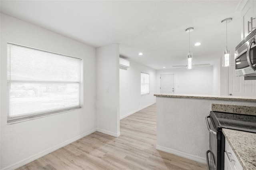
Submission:
M 82 107 L 81 59 L 7 46 L 8 123 Z

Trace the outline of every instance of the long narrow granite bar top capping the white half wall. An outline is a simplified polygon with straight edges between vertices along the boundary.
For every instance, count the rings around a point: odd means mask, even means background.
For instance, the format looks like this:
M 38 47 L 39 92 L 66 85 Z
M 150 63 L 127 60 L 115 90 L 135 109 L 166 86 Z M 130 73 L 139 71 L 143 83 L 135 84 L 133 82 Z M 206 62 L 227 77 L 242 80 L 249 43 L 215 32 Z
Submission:
M 176 97 L 176 98 L 194 98 L 194 99 L 216 99 L 216 100 L 231 100 L 231 101 L 254 101 L 256 97 L 244 97 L 244 96 L 215 96 L 215 95 L 157 95 L 156 97 Z

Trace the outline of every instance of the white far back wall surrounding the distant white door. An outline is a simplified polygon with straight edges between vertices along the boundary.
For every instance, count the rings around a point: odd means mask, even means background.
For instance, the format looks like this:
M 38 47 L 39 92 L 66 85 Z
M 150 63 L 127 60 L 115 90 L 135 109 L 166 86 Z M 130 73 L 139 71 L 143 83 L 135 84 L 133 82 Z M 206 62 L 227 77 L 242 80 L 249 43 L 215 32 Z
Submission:
M 177 69 L 162 69 L 156 71 L 156 88 L 160 94 L 160 75 L 174 74 L 175 75 L 175 94 L 213 94 L 213 72 L 212 66 L 194 67 L 186 69 L 184 67 Z

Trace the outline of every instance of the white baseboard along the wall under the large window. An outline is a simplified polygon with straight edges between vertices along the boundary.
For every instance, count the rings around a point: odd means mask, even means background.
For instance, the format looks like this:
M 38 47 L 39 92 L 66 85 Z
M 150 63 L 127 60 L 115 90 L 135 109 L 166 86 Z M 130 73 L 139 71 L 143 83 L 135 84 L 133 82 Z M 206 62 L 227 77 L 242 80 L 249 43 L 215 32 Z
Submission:
M 87 136 L 87 135 L 89 135 L 89 134 L 91 134 L 93 132 L 96 132 L 96 128 L 94 128 L 92 130 L 89 130 L 88 132 L 84 132 L 84 133 L 82 133 L 82 134 L 80 134 L 80 135 L 78 135 L 78 136 L 76 136 L 76 137 L 74 137 L 72 139 L 66 140 L 65 142 L 57 144 L 56 146 L 53 146 L 52 148 L 44 150 L 44 151 L 42 151 L 42 152 L 40 152 L 38 154 L 35 154 L 33 156 L 30 156 L 30 157 L 28 157 L 28 158 L 26 158 L 24 160 L 16 162 L 15 164 L 7 166 L 7 167 L 3 168 L 2 170 L 14 170 L 14 169 L 17 169 L 17 168 L 19 168 L 19 167 L 21 167 L 23 165 L 28 164 L 29 162 L 32 162 L 33 160 L 41 158 L 42 156 L 44 156 L 46 154 L 49 154 L 49 153 L 51 153 L 51 152 L 53 152 L 53 151 L 55 151 L 55 150 L 57 150 L 59 148 L 62 148 L 63 146 L 66 146 L 66 145 L 68 145 L 68 144 L 70 144 L 70 143 L 72 143 L 72 142 L 74 142 L 76 140 L 79 140 L 80 138 L 83 138 L 84 136 Z

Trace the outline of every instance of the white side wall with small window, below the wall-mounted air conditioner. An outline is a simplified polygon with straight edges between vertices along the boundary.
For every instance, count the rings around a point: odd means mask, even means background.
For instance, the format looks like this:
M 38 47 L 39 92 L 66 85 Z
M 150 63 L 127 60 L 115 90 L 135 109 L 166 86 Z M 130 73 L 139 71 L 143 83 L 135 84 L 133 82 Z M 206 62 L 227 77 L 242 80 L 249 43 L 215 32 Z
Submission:
M 120 119 L 156 103 L 156 70 L 130 61 L 127 70 L 120 70 Z M 148 95 L 140 95 L 140 73 L 149 74 Z

